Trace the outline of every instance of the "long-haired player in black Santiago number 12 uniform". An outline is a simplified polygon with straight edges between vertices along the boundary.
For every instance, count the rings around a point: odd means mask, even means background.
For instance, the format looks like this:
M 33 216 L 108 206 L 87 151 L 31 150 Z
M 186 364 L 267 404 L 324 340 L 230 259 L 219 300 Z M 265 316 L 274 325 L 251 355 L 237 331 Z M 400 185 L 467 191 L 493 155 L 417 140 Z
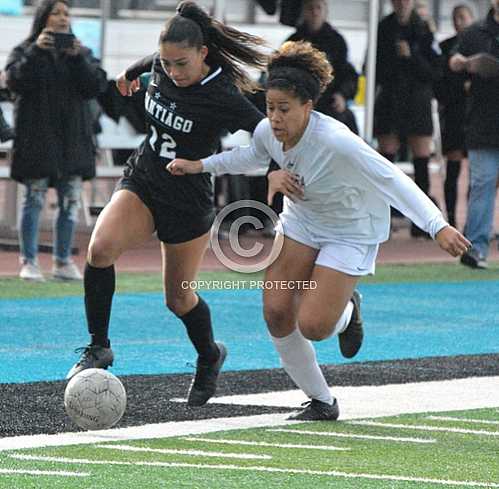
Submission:
M 67 378 L 91 367 L 112 365 L 108 339 L 115 289 L 114 262 L 157 232 L 163 257 L 167 307 L 185 324 L 198 353 L 188 404 L 201 406 L 215 393 L 226 349 L 215 342 L 210 310 L 182 287 L 195 279 L 215 217 L 209 174 L 179 179 L 166 165 L 175 158 L 214 153 L 224 130 L 253 131 L 264 118 L 242 95 L 253 83 L 241 64 L 262 69 L 263 40 L 227 27 L 194 2 L 182 2 L 159 38 L 159 52 L 118 77 L 131 94 L 139 75 L 151 74 L 145 108 L 149 134 L 132 155 L 92 233 L 85 268 L 85 309 L 91 343 Z

